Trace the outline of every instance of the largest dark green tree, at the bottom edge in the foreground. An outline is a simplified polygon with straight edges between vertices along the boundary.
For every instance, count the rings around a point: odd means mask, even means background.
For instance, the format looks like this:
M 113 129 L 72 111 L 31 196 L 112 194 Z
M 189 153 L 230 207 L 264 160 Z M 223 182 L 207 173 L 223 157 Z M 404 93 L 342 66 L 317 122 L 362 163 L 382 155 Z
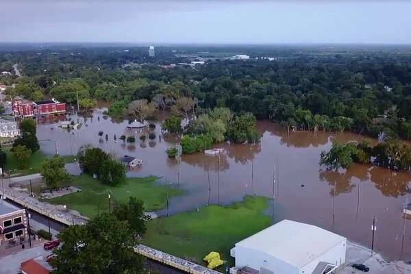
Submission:
M 71 225 L 58 234 L 62 246 L 53 251 L 51 273 L 140 274 L 142 260 L 133 250 L 134 234 L 127 221 L 112 214 L 101 214 L 86 225 Z

